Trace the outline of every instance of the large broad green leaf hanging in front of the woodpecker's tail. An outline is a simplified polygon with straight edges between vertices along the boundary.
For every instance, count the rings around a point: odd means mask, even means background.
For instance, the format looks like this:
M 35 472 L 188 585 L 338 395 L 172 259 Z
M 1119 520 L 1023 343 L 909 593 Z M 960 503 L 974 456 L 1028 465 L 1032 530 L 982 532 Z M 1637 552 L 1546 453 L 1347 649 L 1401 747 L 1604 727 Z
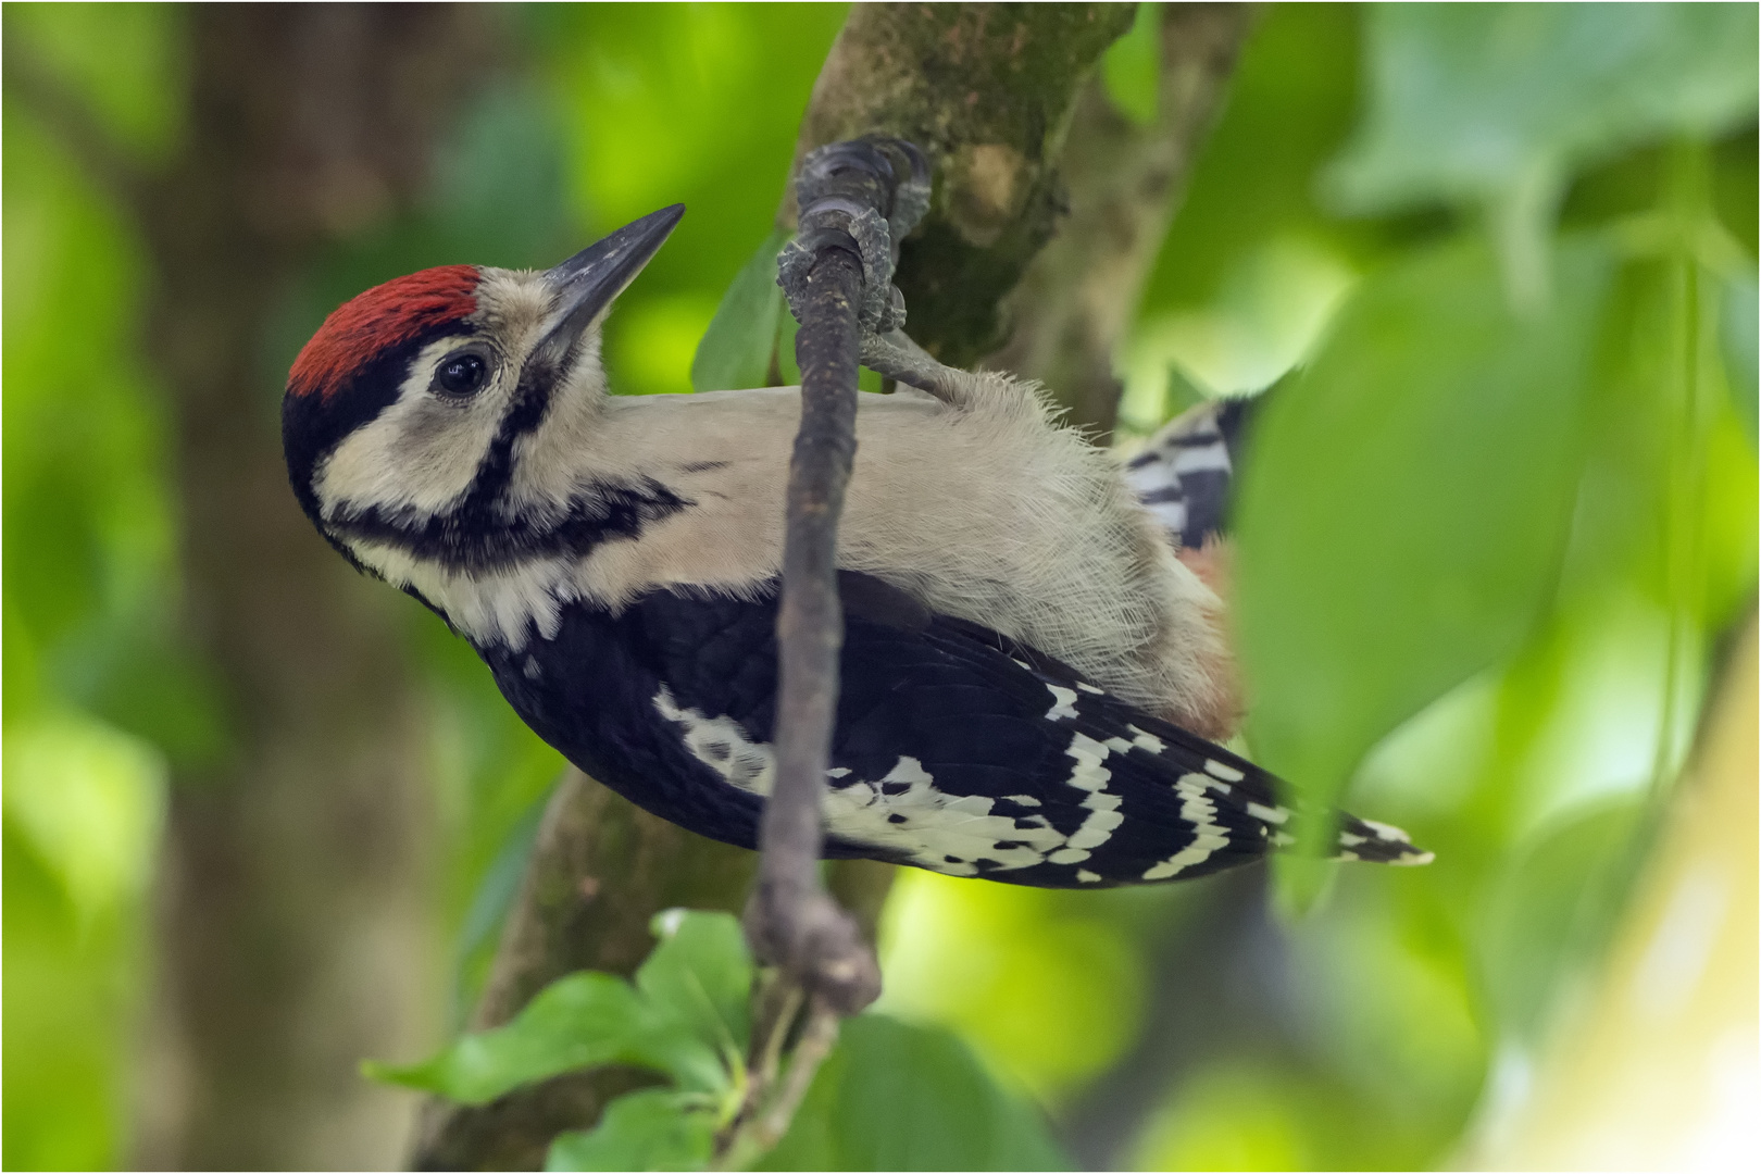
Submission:
M 1319 803 L 1548 602 L 1610 269 L 1562 245 L 1551 306 L 1516 317 L 1490 252 L 1433 250 L 1359 287 L 1266 403 L 1238 502 L 1250 741 Z

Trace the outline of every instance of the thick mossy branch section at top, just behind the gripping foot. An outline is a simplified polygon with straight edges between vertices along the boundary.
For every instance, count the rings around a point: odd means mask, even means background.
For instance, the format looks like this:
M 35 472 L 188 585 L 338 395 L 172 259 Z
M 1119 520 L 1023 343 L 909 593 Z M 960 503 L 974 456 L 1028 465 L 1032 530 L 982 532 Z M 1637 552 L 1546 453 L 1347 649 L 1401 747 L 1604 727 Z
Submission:
M 796 158 L 865 134 L 910 139 L 935 195 L 905 239 L 907 333 L 949 366 L 1006 338 L 1004 297 L 1057 232 L 1078 90 L 1132 4 L 863 4 L 814 86 Z M 794 225 L 785 202 L 778 222 Z

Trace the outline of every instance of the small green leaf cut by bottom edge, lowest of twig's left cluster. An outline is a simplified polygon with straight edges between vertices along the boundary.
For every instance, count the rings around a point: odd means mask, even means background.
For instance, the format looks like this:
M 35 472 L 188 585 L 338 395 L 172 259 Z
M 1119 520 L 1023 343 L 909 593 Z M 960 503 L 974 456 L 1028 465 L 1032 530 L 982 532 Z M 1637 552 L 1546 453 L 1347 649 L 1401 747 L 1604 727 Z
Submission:
M 701 1170 L 710 1165 L 715 1114 L 701 1098 L 664 1088 L 618 1097 L 592 1130 L 558 1134 L 546 1170 Z

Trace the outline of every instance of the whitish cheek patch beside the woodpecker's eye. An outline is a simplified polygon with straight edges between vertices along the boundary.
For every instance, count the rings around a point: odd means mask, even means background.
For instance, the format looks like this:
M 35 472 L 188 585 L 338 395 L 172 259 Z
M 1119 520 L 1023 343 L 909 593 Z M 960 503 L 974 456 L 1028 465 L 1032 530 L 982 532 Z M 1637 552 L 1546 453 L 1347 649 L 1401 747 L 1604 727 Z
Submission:
M 424 517 L 454 505 L 470 489 L 502 426 L 514 373 L 500 364 L 493 382 L 465 403 L 442 401 L 428 391 L 435 366 L 461 343 L 440 338 L 424 347 L 396 401 L 324 458 L 313 477 L 324 517 L 368 509 Z

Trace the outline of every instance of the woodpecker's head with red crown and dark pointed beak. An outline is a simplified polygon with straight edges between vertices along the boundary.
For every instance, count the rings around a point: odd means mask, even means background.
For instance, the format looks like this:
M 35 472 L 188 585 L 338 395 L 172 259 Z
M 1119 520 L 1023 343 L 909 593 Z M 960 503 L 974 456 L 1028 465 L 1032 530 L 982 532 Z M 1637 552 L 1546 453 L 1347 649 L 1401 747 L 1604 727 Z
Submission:
M 331 313 L 294 359 L 282 444 L 301 507 L 350 561 L 495 565 L 565 525 L 606 393 L 601 324 L 682 204 L 542 271 L 444 266 Z

